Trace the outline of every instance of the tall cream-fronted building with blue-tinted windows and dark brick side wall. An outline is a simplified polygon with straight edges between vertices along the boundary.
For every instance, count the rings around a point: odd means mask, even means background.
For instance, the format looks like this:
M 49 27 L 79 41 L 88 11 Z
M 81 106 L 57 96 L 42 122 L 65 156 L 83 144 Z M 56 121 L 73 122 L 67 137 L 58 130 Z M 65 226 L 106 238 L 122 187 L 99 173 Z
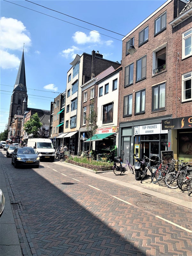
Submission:
M 63 134 L 58 137 L 59 139 L 63 138 L 71 154 L 76 155 L 80 151 L 81 85 L 110 66 L 115 69 L 118 68 L 120 63 L 105 60 L 102 54 L 93 50 L 92 54 L 83 53 L 81 56 L 77 54 L 70 65 L 72 67 L 67 73 Z

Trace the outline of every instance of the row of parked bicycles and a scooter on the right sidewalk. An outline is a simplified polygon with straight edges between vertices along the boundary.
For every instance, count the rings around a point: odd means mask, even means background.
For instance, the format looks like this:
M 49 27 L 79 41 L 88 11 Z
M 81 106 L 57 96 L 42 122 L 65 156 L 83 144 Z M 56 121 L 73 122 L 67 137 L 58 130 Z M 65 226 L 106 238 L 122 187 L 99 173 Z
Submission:
M 180 188 L 182 191 L 188 190 L 188 195 L 192 193 L 192 162 L 184 162 L 184 160 L 170 159 L 169 163 L 165 163 L 160 159 L 160 162 L 149 159 L 145 156 L 143 159 L 136 158 L 133 171 L 132 165 L 126 159 L 126 164 L 123 166 L 122 158 L 115 157 L 113 172 L 116 175 L 123 174 L 128 168 L 132 174 L 135 174 L 135 179 L 142 183 L 147 178 L 151 182 L 168 188 Z

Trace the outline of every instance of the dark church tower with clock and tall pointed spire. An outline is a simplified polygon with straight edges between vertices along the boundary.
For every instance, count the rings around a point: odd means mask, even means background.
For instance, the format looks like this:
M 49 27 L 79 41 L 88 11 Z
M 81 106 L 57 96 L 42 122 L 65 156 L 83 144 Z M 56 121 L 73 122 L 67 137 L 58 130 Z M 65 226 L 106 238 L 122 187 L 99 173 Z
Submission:
M 8 126 L 11 125 L 14 115 L 23 116 L 27 110 L 27 87 L 25 79 L 25 61 L 24 61 L 24 51 L 21 57 L 20 66 L 15 81 L 13 93 L 11 96 L 11 104 L 9 110 L 9 121 Z

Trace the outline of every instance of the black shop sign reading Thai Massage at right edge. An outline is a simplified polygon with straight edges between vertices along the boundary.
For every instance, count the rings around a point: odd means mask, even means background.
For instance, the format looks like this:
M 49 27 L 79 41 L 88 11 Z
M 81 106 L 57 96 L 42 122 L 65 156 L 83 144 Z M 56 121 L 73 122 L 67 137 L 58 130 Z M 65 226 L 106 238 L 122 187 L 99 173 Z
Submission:
M 162 120 L 162 130 L 192 128 L 192 116 Z

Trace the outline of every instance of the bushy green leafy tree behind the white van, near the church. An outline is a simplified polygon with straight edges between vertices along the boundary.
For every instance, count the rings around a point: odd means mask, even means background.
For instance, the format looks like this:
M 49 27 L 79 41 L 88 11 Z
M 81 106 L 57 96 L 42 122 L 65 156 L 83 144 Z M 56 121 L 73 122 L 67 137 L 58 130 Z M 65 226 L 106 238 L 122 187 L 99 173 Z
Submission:
M 38 114 L 35 113 L 33 116 L 31 116 L 30 120 L 28 120 L 24 124 L 25 131 L 28 132 L 28 134 L 33 134 L 34 138 L 38 138 L 38 130 L 41 128 L 43 124 L 40 122 L 40 118 L 38 117 Z

